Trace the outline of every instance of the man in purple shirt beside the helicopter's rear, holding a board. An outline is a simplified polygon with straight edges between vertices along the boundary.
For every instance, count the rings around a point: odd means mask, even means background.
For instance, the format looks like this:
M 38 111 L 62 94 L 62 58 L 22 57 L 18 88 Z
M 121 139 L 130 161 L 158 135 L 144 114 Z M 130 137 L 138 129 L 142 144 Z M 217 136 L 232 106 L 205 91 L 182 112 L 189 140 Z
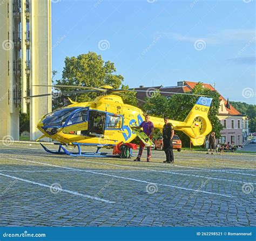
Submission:
M 145 121 L 142 122 L 139 126 L 134 126 L 133 129 L 140 129 L 143 128 L 144 133 L 152 140 L 153 133 L 154 133 L 154 125 L 150 121 L 150 116 L 145 115 Z M 140 161 L 140 158 L 142 157 L 143 148 L 145 144 L 142 140 L 139 142 L 139 153 L 136 159 L 134 161 Z M 147 146 L 147 162 L 149 162 L 151 159 L 151 146 Z

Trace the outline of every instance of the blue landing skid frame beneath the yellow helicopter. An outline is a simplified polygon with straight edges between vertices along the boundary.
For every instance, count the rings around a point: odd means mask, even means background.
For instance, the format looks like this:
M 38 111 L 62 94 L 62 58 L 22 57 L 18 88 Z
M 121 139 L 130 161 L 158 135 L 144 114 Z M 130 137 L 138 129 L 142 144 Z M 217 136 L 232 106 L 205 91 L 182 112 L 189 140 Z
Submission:
M 59 144 L 58 151 L 51 151 L 42 143 L 40 143 L 40 145 L 44 148 L 46 152 L 51 154 L 57 154 L 57 155 L 66 154 L 66 155 L 70 155 L 71 157 L 117 157 L 116 155 L 108 155 L 107 152 L 99 152 L 100 148 L 102 148 L 101 146 L 97 147 L 96 152 L 82 152 L 80 145 L 76 143 L 78 152 L 69 152 L 68 150 L 66 150 L 66 148 L 62 144 Z

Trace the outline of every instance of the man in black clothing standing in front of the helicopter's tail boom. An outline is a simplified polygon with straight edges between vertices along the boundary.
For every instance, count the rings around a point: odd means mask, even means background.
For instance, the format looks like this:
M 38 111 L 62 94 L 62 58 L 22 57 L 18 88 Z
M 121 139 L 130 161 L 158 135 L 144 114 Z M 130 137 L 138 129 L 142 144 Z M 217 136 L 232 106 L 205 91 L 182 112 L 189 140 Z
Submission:
M 172 150 L 172 138 L 174 135 L 173 125 L 169 123 L 169 119 L 167 117 L 164 118 L 164 126 L 163 126 L 163 143 L 164 143 L 164 151 L 166 154 L 165 163 L 174 162 L 173 150 Z

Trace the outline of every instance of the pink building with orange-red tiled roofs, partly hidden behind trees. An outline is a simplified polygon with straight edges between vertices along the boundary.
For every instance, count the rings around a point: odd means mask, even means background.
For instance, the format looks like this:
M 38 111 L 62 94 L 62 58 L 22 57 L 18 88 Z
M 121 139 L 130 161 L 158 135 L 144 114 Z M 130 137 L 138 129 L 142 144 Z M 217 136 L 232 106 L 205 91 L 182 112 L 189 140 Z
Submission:
M 177 86 L 171 87 L 144 87 L 140 86 L 139 88 L 135 88 L 135 90 L 146 91 L 146 92 L 137 92 L 137 98 L 140 100 L 145 100 L 146 97 L 149 97 L 150 93 L 153 90 L 161 91 L 161 95 L 164 96 L 172 96 L 176 93 L 185 93 L 191 92 L 193 88 L 198 84 L 198 82 L 192 81 L 179 81 L 177 82 Z M 203 86 L 212 91 L 217 91 L 214 89 L 211 84 L 202 83 Z M 171 93 L 168 93 L 171 92 Z M 218 91 L 217 91 L 218 92 Z M 173 93 L 173 94 L 172 94 Z M 220 95 L 220 94 L 219 94 Z M 219 108 L 219 120 L 220 123 L 223 124 L 224 129 L 221 131 L 221 137 L 219 141 L 221 143 L 234 143 L 236 146 L 242 145 L 244 138 L 242 133 L 242 115 L 241 113 L 235 109 L 222 95 L 220 95 L 220 108 Z

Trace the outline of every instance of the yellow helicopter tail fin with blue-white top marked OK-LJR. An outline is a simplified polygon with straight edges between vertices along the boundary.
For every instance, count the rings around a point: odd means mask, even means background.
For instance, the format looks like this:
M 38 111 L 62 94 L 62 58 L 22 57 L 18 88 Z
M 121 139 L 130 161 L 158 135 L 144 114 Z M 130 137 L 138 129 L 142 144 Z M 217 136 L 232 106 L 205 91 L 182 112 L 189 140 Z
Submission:
M 212 130 L 211 122 L 208 119 L 211 103 L 212 98 L 200 96 L 187 115 L 184 121 L 185 126 L 179 129 L 190 137 L 194 146 L 203 145 L 206 135 Z

